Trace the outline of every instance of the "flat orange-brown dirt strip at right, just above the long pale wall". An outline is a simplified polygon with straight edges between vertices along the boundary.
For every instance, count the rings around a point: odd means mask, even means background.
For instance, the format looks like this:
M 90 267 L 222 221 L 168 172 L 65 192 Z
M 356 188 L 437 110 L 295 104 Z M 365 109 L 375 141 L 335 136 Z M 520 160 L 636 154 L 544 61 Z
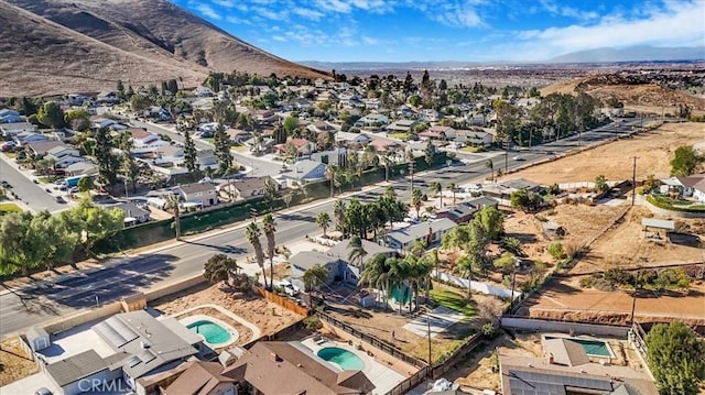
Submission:
M 519 315 L 627 325 L 632 301 L 631 292 L 583 289 L 579 277 L 572 277 L 553 281 L 541 294 L 525 300 Z M 634 316 L 638 321 L 677 317 L 692 325 L 705 325 L 705 284 L 692 284 L 688 292 L 641 290 Z

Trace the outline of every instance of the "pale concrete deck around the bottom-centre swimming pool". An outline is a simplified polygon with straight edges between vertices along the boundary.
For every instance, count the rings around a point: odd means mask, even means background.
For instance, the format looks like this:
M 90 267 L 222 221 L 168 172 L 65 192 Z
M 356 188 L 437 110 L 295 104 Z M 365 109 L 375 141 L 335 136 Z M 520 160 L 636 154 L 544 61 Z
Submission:
M 306 338 L 301 342 L 303 345 L 308 348 L 314 354 L 321 349 L 325 349 L 328 347 L 337 347 L 343 350 L 349 351 L 357 355 L 365 363 L 365 369 L 362 369 L 362 373 L 369 378 L 372 384 L 375 384 L 375 391 L 372 394 L 386 394 L 390 389 L 392 389 L 397 384 L 404 381 L 406 377 L 395 371 L 389 369 L 388 366 L 379 363 L 375 360 L 375 358 L 369 356 L 366 351 L 357 350 L 355 347 L 349 345 L 346 342 L 335 341 L 325 339 L 325 341 L 314 341 L 313 337 Z M 362 347 L 366 344 L 362 343 Z M 337 364 L 330 363 L 335 367 L 338 367 Z

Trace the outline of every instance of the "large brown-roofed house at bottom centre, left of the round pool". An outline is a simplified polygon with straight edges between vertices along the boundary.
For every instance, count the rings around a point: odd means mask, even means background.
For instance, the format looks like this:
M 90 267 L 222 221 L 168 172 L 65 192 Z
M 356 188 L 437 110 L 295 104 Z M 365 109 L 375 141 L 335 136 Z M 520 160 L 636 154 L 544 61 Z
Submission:
M 343 371 L 296 341 L 260 341 L 223 371 L 251 391 L 248 394 L 372 394 L 375 384 L 361 371 Z

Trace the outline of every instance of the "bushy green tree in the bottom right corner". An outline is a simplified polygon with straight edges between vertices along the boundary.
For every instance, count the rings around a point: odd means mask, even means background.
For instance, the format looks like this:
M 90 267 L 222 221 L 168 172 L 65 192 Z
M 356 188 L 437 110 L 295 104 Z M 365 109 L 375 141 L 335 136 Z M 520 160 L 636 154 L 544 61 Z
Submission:
M 683 322 L 654 325 L 647 336 L 647 360 L 661 394 L 691 395 L 705 378 L 705 343 Z

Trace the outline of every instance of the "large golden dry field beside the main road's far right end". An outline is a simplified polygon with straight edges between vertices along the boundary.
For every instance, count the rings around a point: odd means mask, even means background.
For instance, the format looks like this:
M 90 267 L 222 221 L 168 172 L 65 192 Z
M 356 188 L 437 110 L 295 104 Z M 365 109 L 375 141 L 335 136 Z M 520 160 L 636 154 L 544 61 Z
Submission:
M 653 174 L 668 177 L 675 149 L 705 139 L 704 123 L 666 123 L 661 128 L 608 143 L 555 162 L 533 166 L 505 178 L 527 178 L 535 183 L 594 182 L 598 175 L 608 180 L 631 179 L 633 157 L 637 156 L 637 178 Z

